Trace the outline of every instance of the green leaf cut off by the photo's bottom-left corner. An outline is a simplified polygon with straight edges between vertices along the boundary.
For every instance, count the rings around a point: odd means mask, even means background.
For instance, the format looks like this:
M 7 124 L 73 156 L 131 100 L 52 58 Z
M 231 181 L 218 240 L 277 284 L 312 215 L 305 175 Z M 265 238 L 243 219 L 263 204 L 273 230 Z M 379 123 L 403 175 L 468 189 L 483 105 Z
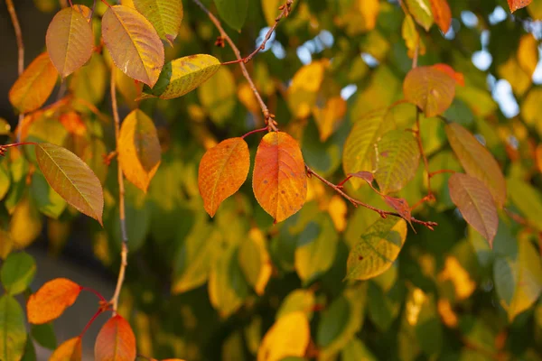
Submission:
M 12 296 L 0 298 L 0 359 L 20 360 L 26 345 L 23 309 Z

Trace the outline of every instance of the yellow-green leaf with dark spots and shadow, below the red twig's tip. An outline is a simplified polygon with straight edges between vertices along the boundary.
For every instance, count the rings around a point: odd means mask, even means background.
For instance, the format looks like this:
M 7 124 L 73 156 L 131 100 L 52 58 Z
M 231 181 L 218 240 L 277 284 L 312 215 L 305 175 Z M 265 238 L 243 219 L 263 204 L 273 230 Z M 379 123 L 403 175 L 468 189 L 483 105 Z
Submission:
M 397 259 L 405 244 L 406 222 L 393 217 L 380 218 L 350 250 L 346 278 L 369 280 L 384 273 Z

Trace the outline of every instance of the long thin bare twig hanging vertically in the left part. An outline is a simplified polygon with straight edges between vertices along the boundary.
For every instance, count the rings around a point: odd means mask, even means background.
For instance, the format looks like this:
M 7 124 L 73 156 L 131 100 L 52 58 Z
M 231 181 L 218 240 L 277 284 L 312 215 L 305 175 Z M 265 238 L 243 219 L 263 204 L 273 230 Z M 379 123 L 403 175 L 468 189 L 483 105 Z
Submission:
M 113 107 L 113 118 L 115 119 L 115 139 L 117 142 L 120 138 L 120 118 L 118 116 L 117 108 L 117 86 L 115 84 L 115 76 L 111 75 L 111 104 Z M 113 305 L 113 314 L 117 314 L 117 305 L 118 305 L 118 296 L 120 290 L 122 289 L 122 284 L 124 283 L 126 265 L 128 264 L 128 235 L 126 233 L 126 211 L 125 211 L 125 189 L 124 189 L 124 175 L 122 173 L 122 168 L 120 167 L 120 162 L 117 160 L 117 172 L 118 172 L 118 216 L 120 218 L 120 234 L 122 237 L 122 250 L 120 252 L 120 271 L 118 272 L 117 287 L 115 288 L 115 293 L 111 299 L 111 304 Z

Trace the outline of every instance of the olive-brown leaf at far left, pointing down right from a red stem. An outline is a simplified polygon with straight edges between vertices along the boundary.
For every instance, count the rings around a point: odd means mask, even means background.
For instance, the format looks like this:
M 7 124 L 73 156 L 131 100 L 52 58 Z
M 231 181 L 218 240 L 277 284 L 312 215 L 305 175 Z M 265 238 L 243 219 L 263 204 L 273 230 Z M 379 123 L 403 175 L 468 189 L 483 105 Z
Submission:
M 71 206 L 102 224 L 104 195 L 98 177 L 77 155 L 58 145 L 35 145 L 43 176 Z

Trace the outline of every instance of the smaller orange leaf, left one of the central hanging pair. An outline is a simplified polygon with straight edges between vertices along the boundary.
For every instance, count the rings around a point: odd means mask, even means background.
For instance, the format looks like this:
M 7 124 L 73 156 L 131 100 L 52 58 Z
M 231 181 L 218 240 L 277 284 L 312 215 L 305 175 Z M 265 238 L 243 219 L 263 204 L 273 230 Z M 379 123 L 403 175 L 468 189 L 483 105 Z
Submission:
M 198 185 L 203 205 L 213 217 L 224 199 L 239 190 L 248 176 L 250 153 L 242 138 L 231 138 L 210 148 L 200 162 Z

